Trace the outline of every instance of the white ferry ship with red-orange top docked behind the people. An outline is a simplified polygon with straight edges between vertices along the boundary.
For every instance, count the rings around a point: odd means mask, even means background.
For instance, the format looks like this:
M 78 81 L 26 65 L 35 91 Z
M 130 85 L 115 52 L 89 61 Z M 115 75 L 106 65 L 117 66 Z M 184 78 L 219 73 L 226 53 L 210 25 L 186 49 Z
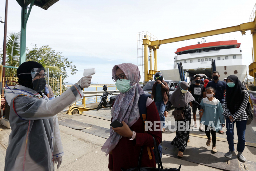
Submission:
M 202 42 L 205 42 L 202 38 Z M 212 76 L 212 60 L 215 60 L 216 71 L 220 80 L 229 75 L 236 75 L 243 82 L 246 78 L 247 66 L 243 65 L 241 43 L 237 40 L 200 43 L 177 49 L 173 70 L 161 70 L 166 80 L 180 80 L 177 63 L 182 63 L 185 76 L 193 79 L 195 74 Z M 188 81 L 189 82 L 189 81 Z

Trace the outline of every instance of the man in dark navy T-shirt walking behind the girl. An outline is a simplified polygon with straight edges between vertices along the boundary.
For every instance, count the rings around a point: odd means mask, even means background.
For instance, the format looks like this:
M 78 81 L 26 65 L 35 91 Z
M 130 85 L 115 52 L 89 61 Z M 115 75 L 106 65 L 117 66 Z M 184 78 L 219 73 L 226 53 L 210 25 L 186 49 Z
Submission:
M 214 97 L 220 101 L 222 108 L 224 108 L 224 94 L 226 92 L 227 83 L 219 80 L 220 74 L 218 71 L 214 71 L 212 77 L 213 81 L 210 81 L 206 88 L 213 87 L 216 90 Z M 221 129 L 218 131 L 218 133 L 225 134 Z

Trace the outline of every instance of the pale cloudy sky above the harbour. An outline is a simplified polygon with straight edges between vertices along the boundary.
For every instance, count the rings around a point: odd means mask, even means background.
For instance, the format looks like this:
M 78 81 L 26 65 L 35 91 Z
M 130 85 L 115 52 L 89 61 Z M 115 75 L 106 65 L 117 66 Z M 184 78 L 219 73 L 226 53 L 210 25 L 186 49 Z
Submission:
M 27 47 L 49 45 L 73 61 L 78 72 L 66 82 L 75 83 L 85 68 L 96 68 L 94 83 L 113 83 L 114 65 L 137 65 L 137 37 L 149 31 L 158 40 L 236 26 L 249 22 L 255 1 L 68 1 L 60 0 L 48 10 L 33 6 L 27 22 Z M 4 17 L 5 2 L 0 3 Z M 19 32 L 21 7 L 9 0 L 7 32 Z M 0 46 L 4 24 L 0 23 Z M 241 43 L 244 64 L 252 62 L 250 31 L 206 37 L 207 42 L 237 40 Z M 173 69 L 177 48 L 196 44 L 201 39 L 161 45 L 158 69 Z M 142 73 L 142 67 L 139 67 Z

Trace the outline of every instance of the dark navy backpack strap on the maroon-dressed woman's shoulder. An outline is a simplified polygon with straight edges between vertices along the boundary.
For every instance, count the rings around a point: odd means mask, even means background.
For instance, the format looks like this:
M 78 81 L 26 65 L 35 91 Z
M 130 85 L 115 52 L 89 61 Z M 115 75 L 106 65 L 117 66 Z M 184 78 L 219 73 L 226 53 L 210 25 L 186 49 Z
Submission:
M 139 115 L 141 120 L 144 123 L 144 132 L 146 132 L 146 121 L 147 121 L 147 98 L 150 96 L 147 94 L 142 94 L 139 97 L 138 106 L 139 106 Z M 147 147 L 147 153 L 149 156 L 149 160 L 152 159 L 150 147 Z

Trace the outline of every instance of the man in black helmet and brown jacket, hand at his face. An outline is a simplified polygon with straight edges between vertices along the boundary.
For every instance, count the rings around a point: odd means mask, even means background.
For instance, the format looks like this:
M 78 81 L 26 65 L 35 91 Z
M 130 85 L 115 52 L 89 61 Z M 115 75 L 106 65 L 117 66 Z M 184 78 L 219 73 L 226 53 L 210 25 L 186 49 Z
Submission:
M 158 113 L 160 115 L 160 120 L 163 122 L 162 124 L 162 132 L 165 131 L 165 117 L 163 115 L 165 105 L 168 101 L 169 96 L 169 87 L 167 83 L 163 80 L 163 74 L 160 72 L 155 73 L 154 76 L 155 83 L 152 87 L 152 93 L 151 93 L 151 99 L 155 101 L 156 108 L 158 110 Z

